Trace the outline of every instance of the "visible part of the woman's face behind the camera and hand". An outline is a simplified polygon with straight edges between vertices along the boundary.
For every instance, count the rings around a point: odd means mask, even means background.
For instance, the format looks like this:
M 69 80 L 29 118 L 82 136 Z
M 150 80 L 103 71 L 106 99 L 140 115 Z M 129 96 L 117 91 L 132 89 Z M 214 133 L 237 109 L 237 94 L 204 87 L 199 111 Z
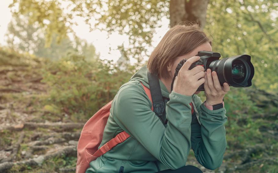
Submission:
M 186 55 L 182 55 L 182 56 L 178 56 L 176 58 L 176 60 L 174 61 L 174 63 L 170 66 L 170 73 L 171 73 L 171 79 L 173 79 L 175 71 L 176 71 L 176 67 L 178 65 L 178 63 L 182 60 L 182 59 L 189 59 L 195 55 L 198 54 L 199 51 L 212 51 L 212 48 L 210 46 L 209 42 L 206 42 L 204 44 L 201 44 L 199 47 L 195 48 L 193 51 L 191 51 L 190 53 L 186 54 Z M 169 69 L 168 69 L 169 71 Z M 200 91 L 195 92 L 194 94 L 199 94 Z

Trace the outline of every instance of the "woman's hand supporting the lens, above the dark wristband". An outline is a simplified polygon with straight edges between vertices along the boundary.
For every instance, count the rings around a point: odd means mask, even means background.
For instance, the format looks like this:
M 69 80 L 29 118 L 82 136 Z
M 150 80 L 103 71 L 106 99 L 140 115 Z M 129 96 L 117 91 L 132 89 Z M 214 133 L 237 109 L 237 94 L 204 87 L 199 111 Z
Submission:
M 220 85 L 217 73 L 207 69 L 204 83 L 205 95 L 207 97 L 206 104 L 214 105 L 222 103 L 225 94 L 230 90 L 228 83 L 225 82 L 223 85 L 224 86 Z

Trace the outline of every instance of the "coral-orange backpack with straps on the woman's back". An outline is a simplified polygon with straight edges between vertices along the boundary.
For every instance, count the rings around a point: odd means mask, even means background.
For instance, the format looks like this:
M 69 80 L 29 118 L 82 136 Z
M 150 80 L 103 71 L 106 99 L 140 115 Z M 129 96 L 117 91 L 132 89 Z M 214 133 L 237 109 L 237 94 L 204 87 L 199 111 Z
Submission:
M 143 83 L 141 84 L 152 102 L 150 89 L 144 86 Z M 84 125 L 77 145 L 76 173 L 84 173 L 86 169 L 90 167 L 91 161 L 96 160 L 97 157 L 105 154 L 117 144 L 122 143 L 130 137 L 127 132 L 123 131 L 98 149 L 102 141 L 104 127 L 110 114 L 112 101 L 97 111 L 97 113 L 95 113 Z

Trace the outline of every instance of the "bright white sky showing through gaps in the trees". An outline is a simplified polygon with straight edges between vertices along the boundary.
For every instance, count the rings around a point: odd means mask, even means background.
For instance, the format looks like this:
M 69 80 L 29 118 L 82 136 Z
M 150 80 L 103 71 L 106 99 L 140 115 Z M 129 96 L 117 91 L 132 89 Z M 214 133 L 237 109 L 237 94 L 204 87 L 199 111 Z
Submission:
M 7 26 L 12 17 L 8 7 L 10 3 L 12 3 L 12 0 L 2 0 L 0 2 L 0 15 L 2 16 L 0 20 L 0 45 L 6 45 L 4 35 L 7 32 Z M 128 36 L 126 35 L 123 36 L 115 32 L 108 36 L 107 32 L 100 30 L 90 32 L 89 26 L 86 25 L 82 19 L 76 18 L 75 20 L 78 23 L 78 26 L 73 26 L 73 30 L 78 37 L 87 40 L 88 43 L 92 43 L 96 47 L 97 52 L 100 52 L 101 59 L 114 60 L 114 62 L 117 61 L 121 56 L 120 51 L 117 50 L 117 46 L 124 44 L 124 46 L 127 47 L 129 44 Z M 156 29 L 156 34 L 152 38 L 153 47 L 148 49 L 148 54 L 152 52 L 164 34 L 169 30 L 169 22 L 170 21 L 166 18 L 162 19 L 163 25 Z M 109 47 L 111 47 L 111 52 L 109 52 Z M 131 63 L 133 64 L 134 62 L 135 60 L 131 59 Z

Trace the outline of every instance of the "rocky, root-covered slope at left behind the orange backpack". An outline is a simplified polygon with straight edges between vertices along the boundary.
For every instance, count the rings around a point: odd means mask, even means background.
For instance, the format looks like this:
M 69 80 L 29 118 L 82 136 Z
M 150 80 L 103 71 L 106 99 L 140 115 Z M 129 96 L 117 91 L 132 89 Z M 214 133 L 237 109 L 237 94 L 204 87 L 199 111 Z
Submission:
M 74 172 L 84 123 L 43 108 L 43 61 L 0 50 L 0 172 Z

